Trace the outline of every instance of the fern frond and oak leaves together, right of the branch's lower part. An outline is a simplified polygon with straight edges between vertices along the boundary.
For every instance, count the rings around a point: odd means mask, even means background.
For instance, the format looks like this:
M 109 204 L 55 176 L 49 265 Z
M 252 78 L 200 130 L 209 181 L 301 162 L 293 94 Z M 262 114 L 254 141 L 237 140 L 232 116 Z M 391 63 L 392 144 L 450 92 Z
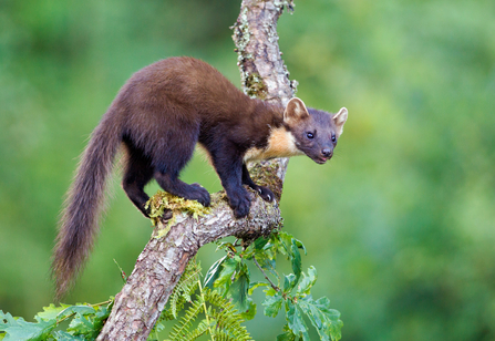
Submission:
M 287 324 L 278 340 L 309 340 L 305 319 L 314 327 L 320 340 L 340 340 L 340 313 L 330 308 L 326 297 L 314 300 L 311 296 L 311 288 L 317 282 L 317 270 L 310 267 L 307 273 L 301 271 L 300 250 L 306 254 L 306 248 L 300 240 L 287 232 L 276 231 L 269 238 L 258 238 L 238 250 L 239 247 L 231 242 L 218 245 L 218 249 L 225 250 L 227 255 L 209 268 L 204 289 L 199 281 L 199 265 L 195 260 L 189 261 L 155 326 L 156 331 L 163 330 L 164 320 L 177 319 L 178 311 L 189 302 L 190 306 L 173 327 L 167 340 L 195 340 L 208 332 L 213 340 L 247 340 L 249 334 L 240 322 L 255 318 L 257 309 L 251 294 L 255 289 L 264 287 L 265 316 L 275 318 L 285 308 Z M 277 255 L 290 261 L 295 273 L 283 277 L 278 275 Z M 250 282 L 248 261 L 259 268 L 266 281 Z M 199 290 L 199 293 L 192 300 L 195 290 Z M 200 319 L 199 314 L 205 318 Z

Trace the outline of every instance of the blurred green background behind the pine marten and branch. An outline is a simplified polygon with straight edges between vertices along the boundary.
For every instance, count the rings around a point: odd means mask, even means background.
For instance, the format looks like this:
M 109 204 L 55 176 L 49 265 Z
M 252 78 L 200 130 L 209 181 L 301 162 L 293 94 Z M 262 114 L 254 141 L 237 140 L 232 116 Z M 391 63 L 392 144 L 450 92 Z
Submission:
M 240 1 L 0 1 L 0 309 L 52 301 L 50 254 L 86 138 L 120 86 L 172 55 L 239 84 Z M 298 96 L 349 110 L 337 155 L 290 162 L 285 229 L 316 266 L 343 340 L 495 340 L 495 2 L 296 2 L 278 31 Z M 184 173 L 210 192 L 195 157 Z M 120 188 L 68 302 L 122 287 L 151 227 Z M 156 190 L 149 186 L 149 193 Z M 203 267 L 221 255 L 200 252 Z M 256 340 L 283 324 L 250 322 Z

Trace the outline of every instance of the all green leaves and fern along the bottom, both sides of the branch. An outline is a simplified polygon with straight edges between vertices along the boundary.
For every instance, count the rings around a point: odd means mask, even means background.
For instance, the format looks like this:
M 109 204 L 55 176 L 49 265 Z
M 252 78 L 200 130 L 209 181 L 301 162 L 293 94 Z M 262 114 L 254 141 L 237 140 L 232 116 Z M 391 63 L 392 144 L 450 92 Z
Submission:
M 313 300 L 311 296 L 311 288 L 317 281 L 316 269 L 310 267 L 307 273 L 301 271 L 299 250 L 306 252 L 306 248 L 300 240 L 276 231 L 269 238 L 258 238 L 249 246 L 243 246 L 240 251 L 239 247 L 231 242 L 219 244 L 218 248 L 227 255 L 210 267 L 205 288 L 200 282 L 199 264 L 196 259 L 189 261 L 148 341 L 158 340 L 157 333 L 164 330 L 163 322 L 167 320 L 176 320 L 168 334 L 169 341 L 196 340 L 204 334 L 209 334 L 212 340 L 250 340 L 241 323 L 255 317 L 256 303 L 250 296 L 260 287 L 266 288 L 265 316 L 275 318 L 285 308 L 287 324 L 278 340 L 310 340 L 305 318 L 318 331 L 320 340 L 340 340 L 340 313 L 330 308 L 326 297 Z M 291 262 L 295 273 L 283 278 L 278 275 L 277 255 Z M 250 282 L 247 261 L 259 268 L 266 281 Z M 27 322 L 0 311 L 0 340 L 94 340 L 112 304 L 113 299 L 99 304 L 51 304 L 34 317 L 37 322 Z M 181 311 L 184 316 L 178 318 Z M 70 320 L 66 331 L 55 331 L 66 320 Z

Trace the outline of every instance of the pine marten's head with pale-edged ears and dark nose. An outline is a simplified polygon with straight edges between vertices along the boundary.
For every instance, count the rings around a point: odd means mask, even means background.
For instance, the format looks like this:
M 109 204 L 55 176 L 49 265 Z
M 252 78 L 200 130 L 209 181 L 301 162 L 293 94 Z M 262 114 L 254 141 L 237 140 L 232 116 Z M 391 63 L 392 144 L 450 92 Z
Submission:
M 283 112 L 283 124 L 293 136 L 296 147 L 318 164 L 324 164 L 333 155 L 348 110 L 342 107 L 337 114 L 316 108 L 306 108 L 305 103 L 293 97 Z

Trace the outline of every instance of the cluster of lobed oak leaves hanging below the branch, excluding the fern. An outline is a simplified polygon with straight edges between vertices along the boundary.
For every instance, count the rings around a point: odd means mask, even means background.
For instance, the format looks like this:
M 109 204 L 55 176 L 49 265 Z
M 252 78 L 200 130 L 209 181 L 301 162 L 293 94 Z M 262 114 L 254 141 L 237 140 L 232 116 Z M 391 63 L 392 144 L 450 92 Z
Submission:
M 256 304 L 249 296 L 259 287 L 266 287 L 264 313 L 275 318 L 285 308 L 287 324 L 283 333 L 277 340 L 309 340 L 307 318 L 317 330 L 320 340 L 340 340 L 342 321 L 340 312 L 330 308 L 330 300 L 326 297 L 314 300 L 311 288 L 317 281 L 317 270 L 313 267 L 305 273 L 301 271 L 300 249 L 306 248 L 302 242 L 282 231 L 274 232 L 269 238 L 258 238 L 241 251 L 237 245 L 224 242 L 219 248 L 226 250 L 227 256 L 216 261 L 205 277 L 205 286 L 215 288 L 223 296 L 233 300 L 245 318 L 252 318 Z M 283 276 L 276 271 L 277 255 L 285 256 L 292 266 L 295 273 Z M 250 283 L 247 261 L 254 264 L 265 276 L 266 282 Z M 275 281 L 275 282 L 274 282 Z

